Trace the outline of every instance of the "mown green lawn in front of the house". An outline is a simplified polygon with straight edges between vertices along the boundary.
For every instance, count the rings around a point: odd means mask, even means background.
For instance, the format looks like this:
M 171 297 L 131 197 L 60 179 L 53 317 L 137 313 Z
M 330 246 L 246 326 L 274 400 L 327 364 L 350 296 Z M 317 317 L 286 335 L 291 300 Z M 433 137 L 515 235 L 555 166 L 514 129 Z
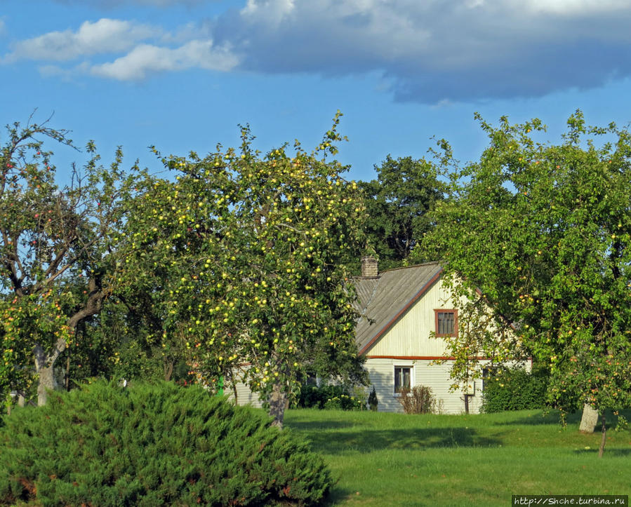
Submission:
M 331 505 L 509 506 L 512 494 L 631 494 L 631 430 L 610 429 L 599 459 L 600 433 L 578 433 L 579 420 L 562 428 L 558 414 L 539 410 L 285 416 L 338 478 Z

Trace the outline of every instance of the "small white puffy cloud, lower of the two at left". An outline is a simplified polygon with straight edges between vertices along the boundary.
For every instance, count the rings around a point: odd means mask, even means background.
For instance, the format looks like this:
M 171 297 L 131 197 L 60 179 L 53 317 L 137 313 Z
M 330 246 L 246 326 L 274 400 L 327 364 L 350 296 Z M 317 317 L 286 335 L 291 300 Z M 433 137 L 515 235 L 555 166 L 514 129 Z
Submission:
M 94 76 L 120 81 L 138 81 L 145 79 L 147 74 L 193 67 L 226 72 L 237 63 L 230 48 L 215 48 L 212 41 L 190 41 L 175 49 L 142 44 L 114 62 L 94 65 L 90 72 Z

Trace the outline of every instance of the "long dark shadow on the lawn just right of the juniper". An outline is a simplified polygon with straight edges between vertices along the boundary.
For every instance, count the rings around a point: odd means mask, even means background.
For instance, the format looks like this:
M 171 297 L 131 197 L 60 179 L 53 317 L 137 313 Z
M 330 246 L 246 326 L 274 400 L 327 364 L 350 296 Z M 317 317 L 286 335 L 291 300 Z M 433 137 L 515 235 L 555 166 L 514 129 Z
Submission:
M 295 425 L 291 425 L 298 429 Z M 314 448 L 328 454 L 374 452 L 380 449 L 429 449 L 432 447 L 497 447 L 497 438 L 477 434 L 474 428 L 405 428 L 397 430 L 305 431 Z

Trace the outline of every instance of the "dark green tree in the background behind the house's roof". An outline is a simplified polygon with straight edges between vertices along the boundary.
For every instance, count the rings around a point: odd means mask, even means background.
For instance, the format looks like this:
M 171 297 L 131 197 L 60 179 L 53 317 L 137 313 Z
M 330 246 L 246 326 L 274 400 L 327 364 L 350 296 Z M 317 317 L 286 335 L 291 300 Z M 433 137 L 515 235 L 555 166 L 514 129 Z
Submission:
M 407 156 L 390 155 L 375 165 L 377 180 L 359 182 L 364 191 L 366 236 L 379 258 L 380 269 L 401 266 L 432 227 L 428 212 L 444 195 L 437 167 Z M 435 259 L 418 259 L 418 262 Z

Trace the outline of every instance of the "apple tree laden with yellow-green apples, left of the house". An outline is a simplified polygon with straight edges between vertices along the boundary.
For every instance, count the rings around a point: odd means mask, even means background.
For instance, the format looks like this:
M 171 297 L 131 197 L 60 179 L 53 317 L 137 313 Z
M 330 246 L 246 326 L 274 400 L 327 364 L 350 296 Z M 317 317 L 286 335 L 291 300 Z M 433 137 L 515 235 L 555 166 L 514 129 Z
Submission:
M 364 379 L 345 283 L 364 205 L 326 161 L 338 121 L 311 154 L 296 142 L 295 156 L 284 146 L 261 157 L 244 128 L 238 150 L 164 158 L 177 179 L 157 182 L 128 223 L 128 261 L 140 266 L 129 274 L 161 287 L 165 342 L 185 340 L 209 386 L 242 379 L 267 395 L 279 426 L 305 370 Z

